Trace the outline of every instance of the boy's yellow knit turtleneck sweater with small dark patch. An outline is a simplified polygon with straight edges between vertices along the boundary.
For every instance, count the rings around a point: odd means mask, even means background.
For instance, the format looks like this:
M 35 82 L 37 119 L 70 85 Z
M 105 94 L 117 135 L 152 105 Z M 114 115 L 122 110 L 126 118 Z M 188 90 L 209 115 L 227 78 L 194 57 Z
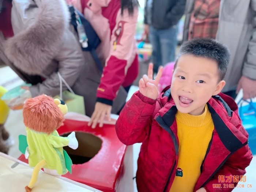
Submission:
M 177 112 L 176 121 L 180 145 L 176 176 L 170 192 L 192 192 L 200 176 L 214 124 L 207 105 L 199 116 Z

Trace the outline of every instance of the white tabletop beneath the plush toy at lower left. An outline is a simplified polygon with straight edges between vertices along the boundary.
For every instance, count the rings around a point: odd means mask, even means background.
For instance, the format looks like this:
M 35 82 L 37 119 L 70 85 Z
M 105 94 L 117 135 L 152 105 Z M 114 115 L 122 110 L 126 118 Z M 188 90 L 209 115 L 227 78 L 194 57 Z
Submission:
M 27 163 L 0 153 L 0 191 L 25 191 L 24 186 L 29 183 L 33 169 Z M 42 171 L 33 192 L 101 192 L 84 184 L 64 177 L 54 177 Z

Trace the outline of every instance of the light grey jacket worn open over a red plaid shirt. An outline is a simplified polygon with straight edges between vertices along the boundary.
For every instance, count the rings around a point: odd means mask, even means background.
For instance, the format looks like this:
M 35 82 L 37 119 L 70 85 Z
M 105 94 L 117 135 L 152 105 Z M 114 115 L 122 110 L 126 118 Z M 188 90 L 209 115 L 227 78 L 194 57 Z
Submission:
M 223 92 L 235 90 L 241 75 L 256 80 L 256 0 L 221 0 L 217 40 L 231 53 Z

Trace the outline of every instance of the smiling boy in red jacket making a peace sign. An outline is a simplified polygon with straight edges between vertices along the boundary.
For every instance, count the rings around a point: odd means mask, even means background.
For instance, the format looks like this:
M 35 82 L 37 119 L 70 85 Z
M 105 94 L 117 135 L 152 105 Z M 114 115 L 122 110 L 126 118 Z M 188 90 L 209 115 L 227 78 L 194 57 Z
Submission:
M 236 186 L 245 174 L 252 159 L 248 133 L 236 103 L 220 93 L 229 57 L 227 48 L 215 40 L 185 42 L 172 85 L 159 98 L 162 68 L 152 80 L 149 65 L 139 91 L 116 123 L 121 142 L 142 142 L 136 175 L 139 192 L 227 192 L 233 188 L 224 184 Z

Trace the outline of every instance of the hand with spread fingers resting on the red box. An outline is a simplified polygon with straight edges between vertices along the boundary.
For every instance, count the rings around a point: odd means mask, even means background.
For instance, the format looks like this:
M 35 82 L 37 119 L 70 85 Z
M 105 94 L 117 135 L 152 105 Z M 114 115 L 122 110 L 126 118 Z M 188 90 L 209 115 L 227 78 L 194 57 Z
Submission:
M 91 116 L 91 120 L 88 125 L 91 126 L 92 124 L 91 128 L 94 129 L 97 123 L 99 123 L 99 127 L 103 127 L 103 121 L 105 116 L 108 117 L 109 121 L 111 120 L 111 117 L 110 117 L 111 109 L 112 109 L 111 105 L 106 105 L 101 102 L 96 102 L 93 115 Z

